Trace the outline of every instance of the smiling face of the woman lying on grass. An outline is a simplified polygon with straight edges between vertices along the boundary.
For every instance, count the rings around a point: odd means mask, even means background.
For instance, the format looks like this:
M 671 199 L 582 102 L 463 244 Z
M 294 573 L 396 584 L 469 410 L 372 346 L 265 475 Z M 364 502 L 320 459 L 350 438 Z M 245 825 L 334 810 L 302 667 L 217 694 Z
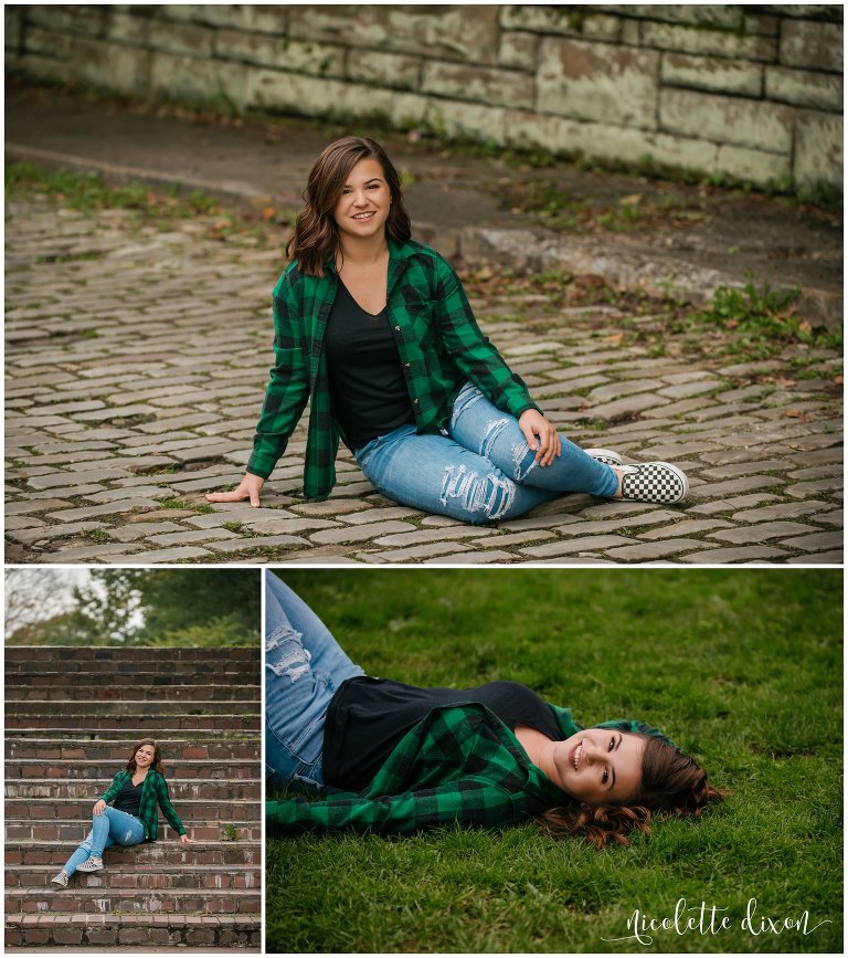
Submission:
M 626 804 L 642 781 L 644 751 L 640 735 L 586 728 L 554 747 L 559 785 L 589 804 Z

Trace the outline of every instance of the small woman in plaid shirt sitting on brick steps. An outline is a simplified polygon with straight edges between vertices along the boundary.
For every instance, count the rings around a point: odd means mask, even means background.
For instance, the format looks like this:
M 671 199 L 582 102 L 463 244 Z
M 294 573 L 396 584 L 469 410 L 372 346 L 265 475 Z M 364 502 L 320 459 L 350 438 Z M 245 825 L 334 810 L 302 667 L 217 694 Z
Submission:
M 109 845 L 155 842 L 159 830 L 157 804 L 171 828 L 179 833 L 180 841 L 189 844 L 186 828 L 168 794 L 159 746 L 152 738 L 142 738 L 132 748 L 127 767 L 115 776 L 95 803 L 88 836 L 51 880 L 53 884 L 65 888 L 74 872 L 99 872 L 103 868 L 104 849 Z

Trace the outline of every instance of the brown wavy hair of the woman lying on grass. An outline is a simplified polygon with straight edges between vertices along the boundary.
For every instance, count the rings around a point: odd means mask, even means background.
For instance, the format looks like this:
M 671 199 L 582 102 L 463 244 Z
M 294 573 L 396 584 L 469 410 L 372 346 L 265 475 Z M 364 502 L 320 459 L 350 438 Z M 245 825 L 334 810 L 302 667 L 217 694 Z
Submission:
M 659 738 L 643 735 L 642 781 L 627 804 L 589 804 L 549 809 L 537 822 L 554 838 L 583 834 L 597 849 L 615 841 L 627 845 L 634 829 L 650 833 L 648 822 L 655 813 L 680 818 L 701 814 L 703 809 L 727 794 L 707 781 L 707 772 L 680 749 Z

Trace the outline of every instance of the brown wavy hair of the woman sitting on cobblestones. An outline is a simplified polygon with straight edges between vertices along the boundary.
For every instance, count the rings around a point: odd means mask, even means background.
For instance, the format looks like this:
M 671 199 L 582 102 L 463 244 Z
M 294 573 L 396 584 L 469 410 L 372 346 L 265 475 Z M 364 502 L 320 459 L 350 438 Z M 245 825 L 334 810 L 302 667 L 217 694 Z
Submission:
M 346 136 L 321 151 L 315 161 L 304 190 L 306 206 L 295 221 L 295 232 L 286 244 L 286 255 L 297 260 L 297 269 L 305 276 L 322 276 L 324 264 L 335 259 L 339 250 L 339 228 L 333 210 L 353 167 L 363 159 L 375 159 L 392 196 L 385 233 L 398 243 L 412 235 L 410 214 L 403 206 L 401 178 L 385 150 L 373 139 Z

